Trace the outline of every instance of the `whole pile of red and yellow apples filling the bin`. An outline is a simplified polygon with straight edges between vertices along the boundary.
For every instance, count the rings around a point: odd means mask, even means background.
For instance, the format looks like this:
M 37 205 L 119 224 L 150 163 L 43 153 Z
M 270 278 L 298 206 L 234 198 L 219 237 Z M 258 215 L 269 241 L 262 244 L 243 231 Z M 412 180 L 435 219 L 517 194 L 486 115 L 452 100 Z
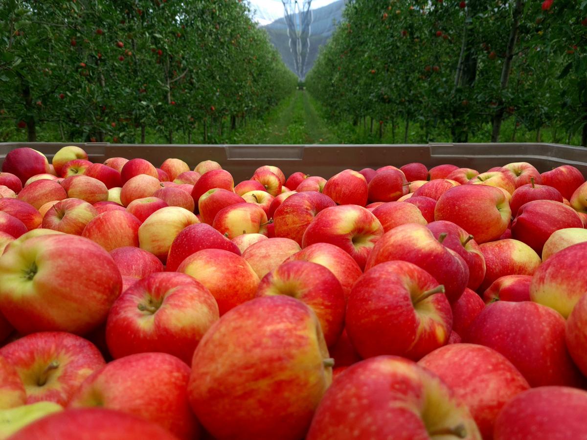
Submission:
M 157 165 L 6 155 L 0 439 L 587 438 L 577 168 Z

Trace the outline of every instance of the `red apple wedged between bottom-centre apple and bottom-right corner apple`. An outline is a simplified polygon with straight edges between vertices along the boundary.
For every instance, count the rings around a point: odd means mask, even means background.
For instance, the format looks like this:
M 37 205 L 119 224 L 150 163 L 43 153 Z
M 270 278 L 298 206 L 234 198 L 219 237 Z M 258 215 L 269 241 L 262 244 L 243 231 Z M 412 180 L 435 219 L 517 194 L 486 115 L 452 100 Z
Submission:
M 485 440 L 493 438 L 500 409 L 530 385 L 502 354 L 474 344 L 437 348 L 418 362 L 437 374 L 467 405 Z

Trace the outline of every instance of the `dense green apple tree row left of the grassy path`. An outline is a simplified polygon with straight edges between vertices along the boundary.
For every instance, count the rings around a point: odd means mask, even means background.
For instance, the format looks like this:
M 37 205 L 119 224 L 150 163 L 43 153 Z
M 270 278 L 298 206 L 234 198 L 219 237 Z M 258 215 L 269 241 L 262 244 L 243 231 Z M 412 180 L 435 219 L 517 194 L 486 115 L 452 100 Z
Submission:
M 297 84 L 247 8 L 239 0 L 0 2 L 0 137 L 135 142 L 156 131 L 171 142 L 195 131 L 214 142 Z

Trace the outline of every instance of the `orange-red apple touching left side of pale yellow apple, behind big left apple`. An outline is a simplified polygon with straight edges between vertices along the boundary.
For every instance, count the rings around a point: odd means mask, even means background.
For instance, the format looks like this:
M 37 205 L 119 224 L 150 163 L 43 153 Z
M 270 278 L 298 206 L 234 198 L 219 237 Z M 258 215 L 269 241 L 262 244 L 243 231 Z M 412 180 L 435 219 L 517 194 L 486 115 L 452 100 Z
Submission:
M 110 252 L 124 246 L 139 246 L 140 226 L 140 220 L 130 212 L 106 211 L 88 222 L 82 236 Z

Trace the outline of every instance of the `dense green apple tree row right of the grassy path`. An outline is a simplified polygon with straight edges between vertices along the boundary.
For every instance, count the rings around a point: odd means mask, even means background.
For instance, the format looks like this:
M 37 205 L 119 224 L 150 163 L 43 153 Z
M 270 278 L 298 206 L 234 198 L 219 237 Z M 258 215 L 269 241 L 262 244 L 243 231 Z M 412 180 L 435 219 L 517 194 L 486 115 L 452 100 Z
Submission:
M 576 134 L 586 145 L 587 2 L 554 0 L 547 10 L 538 0 L 460 4 L 349 2 L 306 76 L 309 92 L 333 123 L 349 121 L 345 130 L 356 133 L 369 117 L 375 133 L 382 124 L 382 139 L 488 141 L 493 131 L 497 140 L 503 121 L 502 140 L 529 131 L 539 140 L 546 129 L 555 141 Z

